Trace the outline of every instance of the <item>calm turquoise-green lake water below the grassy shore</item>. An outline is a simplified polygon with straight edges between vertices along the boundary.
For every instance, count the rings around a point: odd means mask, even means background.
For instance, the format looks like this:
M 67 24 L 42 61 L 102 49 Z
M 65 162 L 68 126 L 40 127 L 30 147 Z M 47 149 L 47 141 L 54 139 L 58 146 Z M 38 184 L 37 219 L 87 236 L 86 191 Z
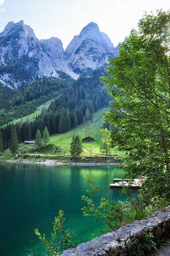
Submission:
M 0 256 L 49 255 L 34 228 L 50 236 L 60 209 L 65 212 L 66 227 L 76 234 L 76 242 L 99 236 L 101 223 L 82 215 L 81 196 L 89 188 L 83 174 L 91 176 L 109 198 L 125 200 L 120 189 L 109 188 L 113 178 L 121 174 L 114 166 L 0 163 Z

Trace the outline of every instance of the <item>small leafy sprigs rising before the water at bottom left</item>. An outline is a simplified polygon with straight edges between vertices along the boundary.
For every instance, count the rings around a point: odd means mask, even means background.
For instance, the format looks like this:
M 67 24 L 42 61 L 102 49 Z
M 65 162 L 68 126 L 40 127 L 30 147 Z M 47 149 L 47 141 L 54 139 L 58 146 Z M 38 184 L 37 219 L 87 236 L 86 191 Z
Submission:
M 38 228 L 34 230 L 35 234 L 40 238 L 40 240 L 42 240 L 42 244 L 44 244 L 50 252 L 50 256 L 58 255 L 63 250 L 74 247 L 72 243 L 72 236 L 74 234 L 73 232 L 70 232 L 70 230 L 64 230 L 64 220 L 64 212 L 60 210 L 58 212 L 58 216 L 54 218 L 54 232 L 51 233 L 52 240 L 50 242 L 46 240 L 45 233 L 42 235 L 38 231 Z M 61 235 L 61 238 L 57 241 L 58 235 Z

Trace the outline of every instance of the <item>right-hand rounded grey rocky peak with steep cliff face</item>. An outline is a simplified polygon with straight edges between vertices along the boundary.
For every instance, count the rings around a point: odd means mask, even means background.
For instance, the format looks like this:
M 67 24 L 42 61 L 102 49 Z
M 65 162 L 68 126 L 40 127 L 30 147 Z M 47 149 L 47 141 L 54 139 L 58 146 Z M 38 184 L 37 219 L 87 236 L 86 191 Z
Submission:
M 114 57 L 110 38 L 100 32 L 98 25 L 90 22 L 78 36 L 74 36 L 64 52 L 68 66 L 77 74 L 90 72 L 108 64 Z

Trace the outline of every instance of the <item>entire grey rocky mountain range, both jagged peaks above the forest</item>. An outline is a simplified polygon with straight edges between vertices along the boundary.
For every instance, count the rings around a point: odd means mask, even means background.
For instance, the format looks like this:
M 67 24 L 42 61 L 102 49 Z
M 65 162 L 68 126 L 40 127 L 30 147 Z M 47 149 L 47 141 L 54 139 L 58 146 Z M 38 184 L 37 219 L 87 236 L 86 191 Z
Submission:
M 82 71 L 108 64 L 108 58 L 118 54 L 110 38 L 90 22 L 74 36 L 64 51 L 60 39 L 39 40 L 32 28 L 21 20 L 8 22 L 0 33 L 0 76 L 17 86 L 37 77 L 77 79 Z

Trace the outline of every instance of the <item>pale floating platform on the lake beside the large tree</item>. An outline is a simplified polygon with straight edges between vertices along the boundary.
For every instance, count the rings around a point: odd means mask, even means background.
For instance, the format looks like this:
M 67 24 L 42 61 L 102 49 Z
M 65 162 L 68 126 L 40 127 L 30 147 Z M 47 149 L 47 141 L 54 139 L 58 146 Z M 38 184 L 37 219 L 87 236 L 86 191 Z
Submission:
M 142 180 L 140 179 L 113 179 L 114 183 L 110 184 L 110 188 L 122 188 L 122 186 L 130 186 L 130 188 L 141 188 L 142 187 Z

